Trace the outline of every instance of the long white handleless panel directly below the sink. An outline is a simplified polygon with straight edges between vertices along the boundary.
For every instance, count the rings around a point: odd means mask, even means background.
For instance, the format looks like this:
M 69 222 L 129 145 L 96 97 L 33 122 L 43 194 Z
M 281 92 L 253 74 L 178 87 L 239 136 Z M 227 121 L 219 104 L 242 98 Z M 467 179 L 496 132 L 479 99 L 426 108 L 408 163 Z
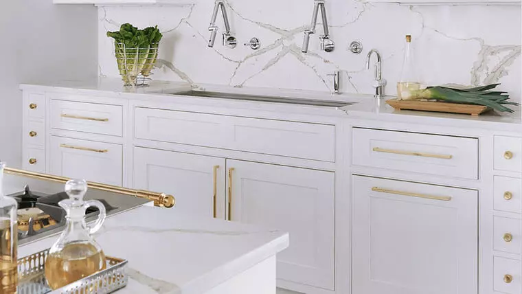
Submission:
M 163 142 L 335 161 L 335 126 L 135 109 L 135 136 Z

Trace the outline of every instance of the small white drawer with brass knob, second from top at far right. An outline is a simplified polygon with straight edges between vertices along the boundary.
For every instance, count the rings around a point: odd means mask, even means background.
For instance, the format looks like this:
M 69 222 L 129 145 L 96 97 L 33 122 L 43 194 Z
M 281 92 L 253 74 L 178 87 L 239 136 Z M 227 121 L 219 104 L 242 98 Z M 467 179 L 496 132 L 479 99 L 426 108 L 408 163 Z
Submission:
M 504 212 L 522 212 L 522 180 L 510 177 L 493 178 L 495 210 Z

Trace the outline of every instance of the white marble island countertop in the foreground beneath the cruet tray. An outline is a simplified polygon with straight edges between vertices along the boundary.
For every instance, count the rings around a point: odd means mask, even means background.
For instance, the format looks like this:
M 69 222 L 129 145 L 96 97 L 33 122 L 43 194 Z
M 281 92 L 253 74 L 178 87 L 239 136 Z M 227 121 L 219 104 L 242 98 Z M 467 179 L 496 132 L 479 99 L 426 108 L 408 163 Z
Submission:
M 57 236 L 19 247 L 49 248 Z M 108 256 L 128 260 L 128 286 L 117 293 L 198 294 L 288 247 L 288 234 L 174 210 L 137 207 L 108 218 L 95 234 Z

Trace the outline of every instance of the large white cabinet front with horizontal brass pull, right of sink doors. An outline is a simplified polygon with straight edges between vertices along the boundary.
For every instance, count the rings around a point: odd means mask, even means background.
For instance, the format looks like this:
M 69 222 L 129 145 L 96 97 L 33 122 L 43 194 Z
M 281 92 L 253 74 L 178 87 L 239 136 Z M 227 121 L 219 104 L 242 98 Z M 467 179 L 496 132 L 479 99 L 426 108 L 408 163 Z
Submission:
M 477 293 L 477 191 L 361 176 L 352 189 L 352 294 Z

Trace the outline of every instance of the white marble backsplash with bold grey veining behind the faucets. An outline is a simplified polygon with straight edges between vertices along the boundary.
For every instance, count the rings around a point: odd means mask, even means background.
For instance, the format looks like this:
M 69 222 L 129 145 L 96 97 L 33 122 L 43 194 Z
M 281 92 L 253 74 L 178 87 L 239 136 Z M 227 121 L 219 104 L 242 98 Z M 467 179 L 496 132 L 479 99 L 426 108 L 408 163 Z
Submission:
M 501 89 L 521 101 L 520 5 L 409 6 L 330 0 L 326 9 L 337 47 L 330 53 L 319 50 L 322 27 L 318 25 L 307 54 L 301 46 L 312 0 L 228 0 L 227 5 L 238 38 L 236 49 L 223 47 L 220 34 L 214 48 L 207 47 L 211 0 L 188 6 L 100 7 L 100 76 L 118 76 L 113 41 L 106 32 L 128 22 L 139 27 L 159 25 L 163 32 L 161 68 L 154 75 L 158 80 L 332 91 L 328 75 L 341 70 L 342 92 L 374 93 L 373 68 L 365 68 L 366 54 L 374 48 L 383 56 L 386 93 L 394 95 L 404 36 L 411 34 L 418 71 L 427 84 L 501 82 Z M 218 26 L 223 32 L 221 18 Z M 242 45 L 253 36 L 262 44 L 257 51 Z M 359 55 L 348 49 L 354 40 L 363 43 Z

